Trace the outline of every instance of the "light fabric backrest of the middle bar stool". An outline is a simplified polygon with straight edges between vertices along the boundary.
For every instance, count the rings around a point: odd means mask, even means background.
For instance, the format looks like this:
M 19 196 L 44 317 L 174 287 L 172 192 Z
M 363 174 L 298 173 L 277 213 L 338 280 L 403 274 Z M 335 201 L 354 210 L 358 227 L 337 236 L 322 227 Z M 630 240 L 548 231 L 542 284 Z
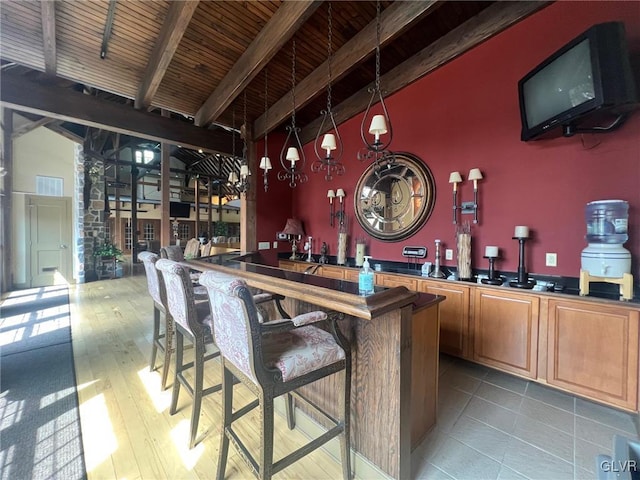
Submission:
M 179 263 L 163 258 L 156 262 L 156 268 L 162 272 L 171 317 L 192 334 L 200 334 L 193 285 L 187 271 Z

